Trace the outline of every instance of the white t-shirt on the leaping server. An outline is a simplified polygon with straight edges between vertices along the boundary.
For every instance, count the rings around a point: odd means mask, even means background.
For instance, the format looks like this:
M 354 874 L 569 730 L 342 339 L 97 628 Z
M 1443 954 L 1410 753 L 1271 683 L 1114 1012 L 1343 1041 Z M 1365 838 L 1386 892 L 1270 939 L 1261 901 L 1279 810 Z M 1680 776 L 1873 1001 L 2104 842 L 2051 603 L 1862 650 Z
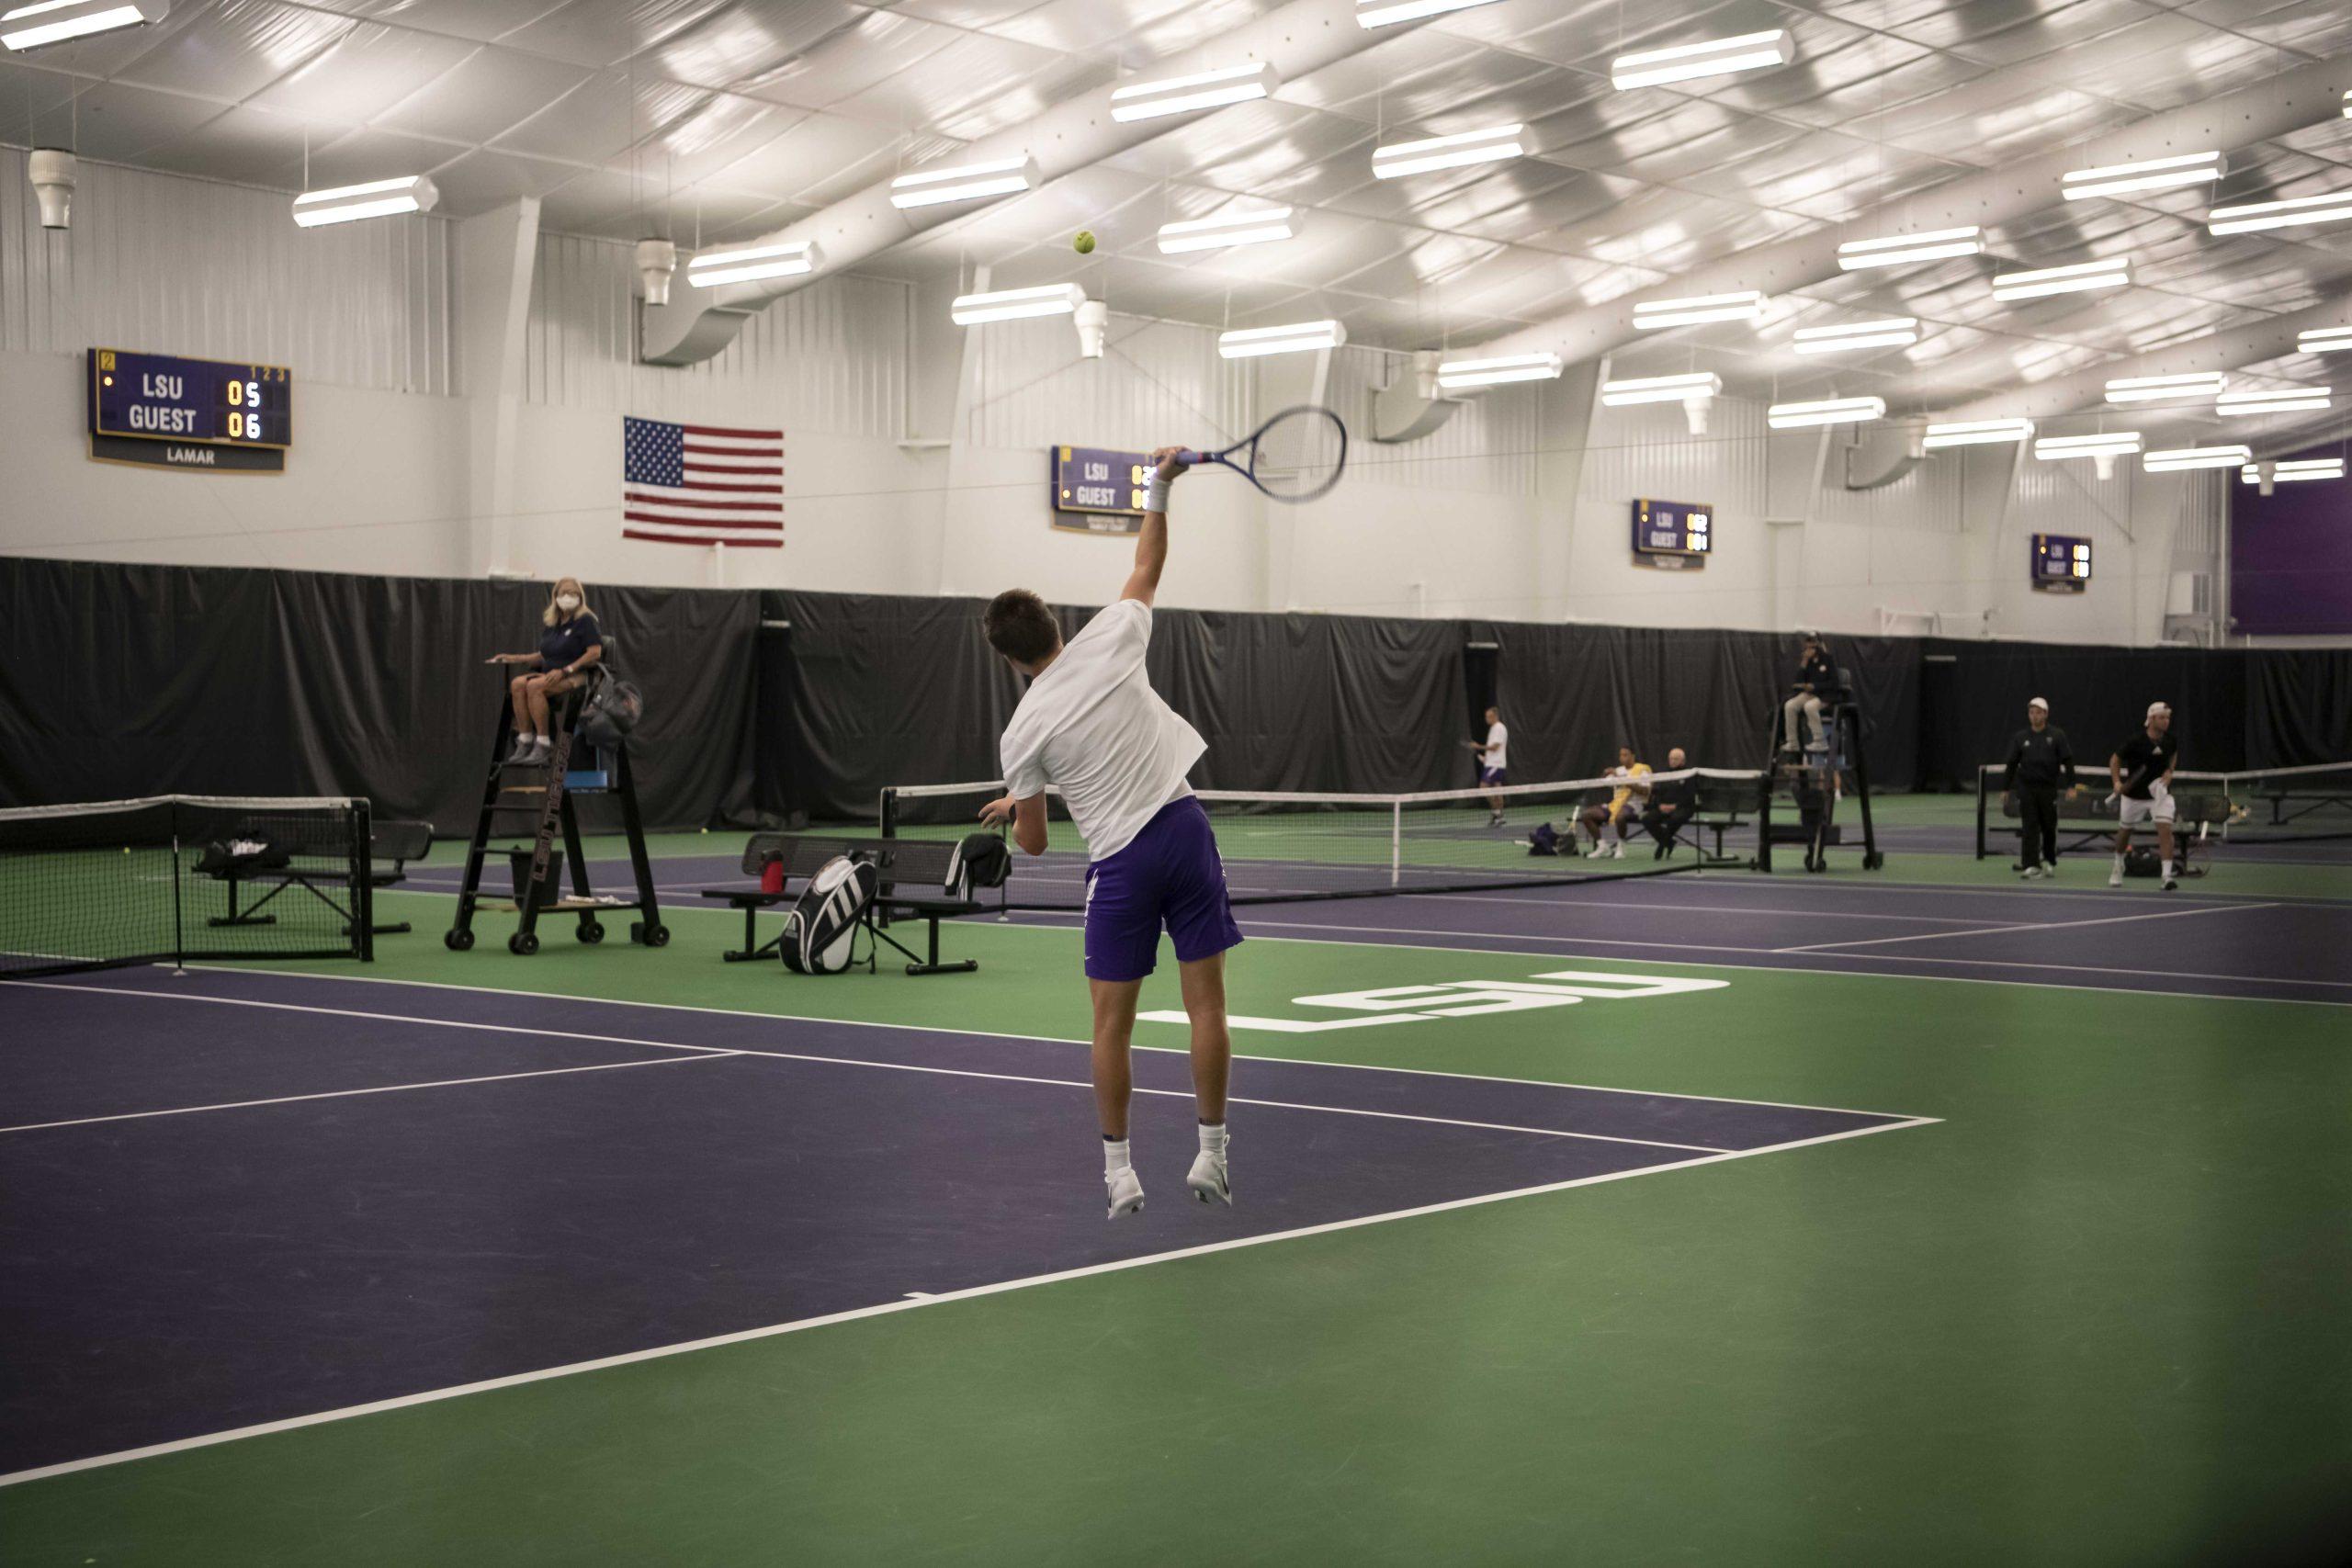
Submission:
M 1061 785 L 1094 860 L 1127 849 L 1160 806 L 1190 795 L 1183 776 L 1209 750 L 1143 675 L 1150 639 L 1150 604 L 1110 604 L 1030 682 L 1004 726 L 1004 790 L 1028 799 Z

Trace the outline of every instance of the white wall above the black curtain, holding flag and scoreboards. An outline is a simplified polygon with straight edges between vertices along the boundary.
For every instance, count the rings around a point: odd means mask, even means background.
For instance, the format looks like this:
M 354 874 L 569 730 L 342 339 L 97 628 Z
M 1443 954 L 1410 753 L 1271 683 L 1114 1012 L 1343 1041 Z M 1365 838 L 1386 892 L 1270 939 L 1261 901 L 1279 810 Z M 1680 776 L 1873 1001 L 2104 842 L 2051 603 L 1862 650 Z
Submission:
M 85 165 L 75 226 L 38 228 L 21 153 L 0 155 L 0 552 L 334 571 L 459 574 L 468 388 L 452 343 L 452 228 L 402 219 L 296 230 L 282 193 Z M 677 287 L 687 287 L 682 280 Z M 633 357 L 630 249 L 541 235 L 513 430 L 506 564 L 588 581 L 993 592 L 1087 602 L 1124 576 L 1120 538 L 1056 531 L 1047 447 L 1225 442 L 1315 393 L 1308 357 L 1228 362 L 1207 327 L 1112 317 L 1080 360 L 1065 320 L 962 331 L 948 284 L 833 277 L 774 303 L 694 369 Z M 280 477 L 92 463 L 82 350 L 289 362 L 296 444 Z M 1590 409 L 1595 367 L 1498 388 L 1406 447 L 1367 440 L 1402 362 L 1331 355 L 1319 395 L 1357 444 L 1348 482 L 1272 508 L 1232 475 L 1178 489 L 1164 597 L 1204 609 L 1583 618 L 1649 625 L 1929 630 L 2152 642 L 2178 571 L 2211 571 L 2213 477 L 1931 456 L 1844 489 L 1844 435 L 1771 435 L 1724 397 L 1691 437 L 1679 407 Z M 786 430 L 786 548 L 619 536 L 623 414 Z M 1637 567 L 1637 496 L 1717 508 L 1703 571 Z M 2079 597 L 2027 588 L 2034 531 L 2086 534 Z

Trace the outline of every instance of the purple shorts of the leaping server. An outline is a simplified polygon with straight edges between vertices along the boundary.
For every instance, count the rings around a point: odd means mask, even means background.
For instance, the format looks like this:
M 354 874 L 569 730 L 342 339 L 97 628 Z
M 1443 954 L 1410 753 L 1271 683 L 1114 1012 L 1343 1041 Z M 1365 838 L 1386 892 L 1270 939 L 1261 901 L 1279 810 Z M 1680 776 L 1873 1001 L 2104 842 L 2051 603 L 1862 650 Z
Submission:
M 1190 795 L 1160 806 L 1120 853 L 1087 867 L 1087 978 L 1152 973 L 1162 922 L 1181 964 L 1242 943 L 1209 813 Z

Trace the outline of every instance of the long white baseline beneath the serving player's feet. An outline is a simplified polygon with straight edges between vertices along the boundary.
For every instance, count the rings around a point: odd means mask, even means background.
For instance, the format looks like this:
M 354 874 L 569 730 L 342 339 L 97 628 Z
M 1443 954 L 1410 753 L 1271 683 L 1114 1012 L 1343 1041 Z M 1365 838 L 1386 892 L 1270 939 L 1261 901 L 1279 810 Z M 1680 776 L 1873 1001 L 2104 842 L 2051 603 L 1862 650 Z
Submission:
M 1367 1225 L 1388 1225 L 1390 1220 L 1416 1220 L 1432 1213 L 1451 1213 L 1456 1208 L 1479 1208 L 1484 1204 L 1505 1204 L 1510 1199 L 1538 1197 L 1545 1192 L 1566 1192 L 1571 1187 L 1597 1187 L 1599 1182 L 1621 1182 L 1635 1175 L 1658 1175 L 1663 1171 L 1689 1171 L 1693 1166 L 1715 1166 L 1731 1159 L 1752 1159 L 1757 1154 L 1780 1154 L 1785 1150 L 1804 1150 L 1818 1143 L 1839 1143 L 1844 1138 L 1867 1138 L 1870 1133 L 1893 1133 L 1912 1126 L 1931 1126 L 1933 1119 L 1919 1117 L 1910 1121 L 1884 1121 L 1879 1126 L 1856 1126 L 1842 1133 L 1818 1133 L 1813 1138 L 1792 1138 L 1790 1143 L 1771 1143 L 1757 1150 L 1729 1150 L 1724 1154 L 1700 1154 L 1696 1159 L 1670 1159 L 1656 1166 L 1637 1166 L 1632 1171 L 1606 1171 L 1602 1175 L 1576 1175 L 1564 1182 L 1543 1182 L 1541 1187 L 1515 1187 L 1510 1192 L 1484 1192 L 1468 1199 L 1449 1199 L 1444 1204 L 1423 1204 L 1418 1208 L 1392 1208 L 1388 1213 L 1357 1215 L 1352 1220 L 1327 1220 L 1322 1225 L 1301 1225 L 1296 1229 L 1277 1229 L 1263 1237 L 1235 1237 L 1232 1241 L 1204 1241 L 1202 1246 L 1183 1246 L 1169 1253 L 1148 1253 L 1143 1258 L 1120 1258 L 1115 1262 L 1089 1262 L 1077 1269 L 1058 1269 L 1054 1274 L 1030 1274 L 1028 1279 L 1004 1279 L 990 1286 L 967 1286 L 962 1291 L 941 1291 L 938 1295 L 917 1295 L 891 1302 L 877 1302 L 873 1307 L 851 1307 L 849 1312 L 828 1312 L 826 1316 L 809 1316 L 793 1324 L 769 1324 L 767 1328 L 739 1328 L 736 1333 L 717 1333 L 703 1340 L 682 1340 L 677 1345 L 654 1345 L 649 1349 L 630 1349 L 619 1356 L 597 1356 L 595 1361 L 572 1361 L 567 1366 L 548 1366 L 534 1373 L 510 1373 L 506 1378 L 485 1378 L 480 1382 L 461 1382 L 447 1389 L 426 1389 L 421 1394 L 400 1394 L 395 1399 L 376 1399 L 365 1406 L 343 1406 L 341 1410 L 318 1410 L 313 1415 L 292 1415 L 287 1420 L 259 1422 L 252 1427 L 233 1427 L 228 1432 L 205 1432 L 202 1436 L 181 1436 L 169 1443 L 148 1443 L 146 1448 L 125 1448 L 120 1453 L 99 1453 L 87 1460 L 66 1460 L 61 1465 L 42 1465 L 38 1469 L 19 1469 L 12 1474 L 0 1474 L 0 1486 L 21 1486 L 26 1481 L 45 1481 L 49 1476 L 68 1476 L 82 1469 L 103 1469 L 108 1465 L 127 1465 L 132 1460 L 151 1460 L 167 1453 L 186 1453 L 191 1448 L 212 1448 L 216 1443 L 235 1443 L 249 1436 L 268 1436 L 273 1432 L 299 1432 L 301 1427 L 320 1427 L 336 1420 L 353 1420 L 358 1415 L 381 1415 L 386 1410 L 405 1410 L 409 1406 L 437 1403 L 442 1399 L 463 1399 L 468 1394 L 489 1394 L 494 1389 L 522 1387 L 527 1382 L 548 1382 L 553 1378 L 576 1378 L 581 1373 L 600 1373 L 614 1366 L 635 1366 L 640 1361 L 659 1361 L 666 1356 L 682 1356 L 699 1349 L 717 1349 L 722 1345 L 743 1345 L 750 1340 L 769 1340 L 786 1333 L 804 1333 L 809 1328 L 830 1328 L 833 1324 L 854 1324 L 858 1319 L 884 1316 L 889 1312 L 922 1312 L 927 1307 L 938 1307 L 943 1302 L 976 1300 L 981 1295 L 1004 1295 L 1007 1291 L 1028 1291 L 1033 1286 L 1054 1286 L 1073 1279 L 1089 1279 L 1094 1274 L 1120 1274 L 1127 1269 L 1150 1267 L 1155 1262 L 1176 1262 L 1181 1258 L 1204 1258 L 1209 1253 L 1232 1253 L 1249 1246 L 1270 1246 L 1275 1241 L 1298 1241 L 1303 1237 L 1324 1237 L 1341 1229 L 1362 1229 Z

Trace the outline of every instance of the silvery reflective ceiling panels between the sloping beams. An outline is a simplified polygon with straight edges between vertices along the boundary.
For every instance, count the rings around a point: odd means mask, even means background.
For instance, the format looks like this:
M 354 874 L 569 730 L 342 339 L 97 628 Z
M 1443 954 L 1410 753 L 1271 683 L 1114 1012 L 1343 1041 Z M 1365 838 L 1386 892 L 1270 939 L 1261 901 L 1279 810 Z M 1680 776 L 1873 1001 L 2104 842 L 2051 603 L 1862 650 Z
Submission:
M 1235 35 L 1275 0 L 181 0 L 155 28 L 0 59 L 0 136 L 282 190 L 430 172 L 442 212 L 515 195 L 557 230 L 691 247 L 804 219 L 1054 103 Z M 1797 59 L 1616 92 L 1609 59 L 1762 28 Z M 995 287 L 1075 277 L 1115 310 L 1470 348 L 1696 268 L 2060 155 L 2157 110 L 2352 56 L 2352 0 L 1501 0 L 1404 28 L 1176 122 L 1042 190 L 870 256 Z M 2352 59 L 2345 63 L 2352 87 Z M 1524 120 L 1534 155 L 1402 181 L 1371 148 Z M 306 179 L 308 160 L 308 179 Z M 1780 294 L 1762 331 L 1621 350 L 1731 390 L 1884 390 L 1898 409 L 2079 376 L 2105 360 L 2347 294 L 2352 226 L 2216 240 L 2209 195 L 2352 188 L 2352 120 L 2234 148 L 2218 193 L 2060 202 L 1994 254 Z M 1152 230 L 1235 197 L 1301 209 L 1296 240 L 1160 256 Z M 1879 214 L 1879 216 L 1875 216 Z M 1101 249 L 1068 242 L 1091 228 Z M 2136 284 L 1997 306 L 1997 266 L 2131 252 Z M 1910 313 L 1912 348 L 1799 362 L 1795 324 Z M 2256 378 L 2326 378 L 2277 360 Z M 2340 367 L 2352 383 L 2352 362 Z

